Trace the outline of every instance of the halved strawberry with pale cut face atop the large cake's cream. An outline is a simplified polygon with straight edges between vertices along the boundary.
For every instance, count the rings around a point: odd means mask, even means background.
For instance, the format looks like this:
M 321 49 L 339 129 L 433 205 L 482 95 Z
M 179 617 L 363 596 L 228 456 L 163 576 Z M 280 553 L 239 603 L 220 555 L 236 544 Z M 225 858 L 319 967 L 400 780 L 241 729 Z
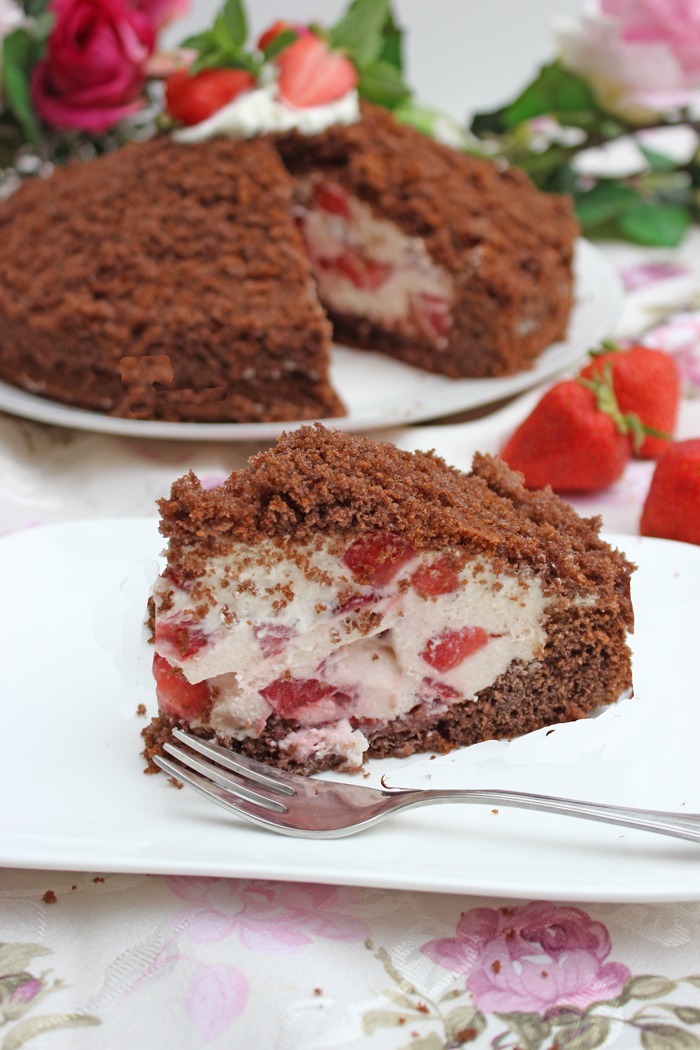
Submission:
M 277 56 L 279 97 L 290 106 L 325 106 L 357 84 L 355 66 L 319 37 L 299 37 Z

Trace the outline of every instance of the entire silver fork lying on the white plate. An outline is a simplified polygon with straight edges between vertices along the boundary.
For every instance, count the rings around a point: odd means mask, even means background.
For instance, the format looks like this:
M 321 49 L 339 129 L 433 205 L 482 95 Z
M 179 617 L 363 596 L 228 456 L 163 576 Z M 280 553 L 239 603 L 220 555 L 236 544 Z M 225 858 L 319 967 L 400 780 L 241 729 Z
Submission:
M 176 761 L 156 755 L 154 761 L 162 770 L 245 820 L 280 835 L 338 839 L 378 824 L 399 810 L 438 802 L 478 802 L 559 813 L 700 842 L 700 814 L 632 810 L 512 791 L 366 788 L 284 773 L 178 729 L 172 735 L 188 750 L 166 743 L 166 751 Z

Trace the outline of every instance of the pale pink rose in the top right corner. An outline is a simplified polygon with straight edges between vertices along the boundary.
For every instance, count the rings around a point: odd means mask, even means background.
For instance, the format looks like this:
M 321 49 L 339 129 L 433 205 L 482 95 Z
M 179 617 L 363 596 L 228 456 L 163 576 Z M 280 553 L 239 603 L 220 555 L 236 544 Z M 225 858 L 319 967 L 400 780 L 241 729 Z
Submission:
M 633 123 L 687 105 L 700 86 L 697 0 L 600 0 L 598 13 L 561 27 L 558 43 L 563 65 Z

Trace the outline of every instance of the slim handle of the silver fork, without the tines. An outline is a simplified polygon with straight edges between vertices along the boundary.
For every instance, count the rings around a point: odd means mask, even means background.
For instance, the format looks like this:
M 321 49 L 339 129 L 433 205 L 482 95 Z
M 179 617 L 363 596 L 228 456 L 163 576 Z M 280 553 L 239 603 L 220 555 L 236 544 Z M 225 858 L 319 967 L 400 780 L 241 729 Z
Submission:
M 678 839 L 700 842 L 700 814 L 665 813 L 659 810 L 636 810 L 629 806 L 604 805 L 600 802 L 581 802 L 577 799 L 556 798 L 551 795 L 529 795 L 524 792 L 478 789 L 430 789 L 412 791 L 407 788 L 385 788 L 383 794 L 393 800 L 394 810 L 410 806 L 433 805 L 438 802 L 478 802 L 503 805 L 540 813 L 558 813 L 567 817 L 582 817 L 607 824 L 620 824 Z

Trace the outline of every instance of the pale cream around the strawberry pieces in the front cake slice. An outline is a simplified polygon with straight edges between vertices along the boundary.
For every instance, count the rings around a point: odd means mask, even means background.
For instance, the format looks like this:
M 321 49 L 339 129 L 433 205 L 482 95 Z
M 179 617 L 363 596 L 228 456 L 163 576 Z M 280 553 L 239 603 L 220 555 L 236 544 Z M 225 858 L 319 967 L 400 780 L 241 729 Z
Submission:
M 544 646 L 550 600 L 531 573 L 499 575 L 480 559 L 465 565 L 455 590 L 426 598 L 411 575 L 441 556 L 434 552 L 413 555 L 383 586 L 355 583 L 326 546 L 290 546 L 289 552 L 293 556 L 273 544 L 240 545 L 235 554 L 210 561 L 192 595 L 165 578 L 156 583 L 156 610 L 168 595 L 156 622 L 166 628 L 196 622 L 206 639 L 187 658 L 163 640 L 156 650 L 190 682 L 209 682 L 209 724 L 225 736 L 261 733 L 273 712 L 262 691 L 279 679 L 322 687 L 290 714 L 301 728 L 352 718 L 361 729 L 365 719 L 390 721 L 426 699 L 473 700 L 514 660 L 536 659 Z M 211 606 L 197 620 L 201 590 Z M 352 598 L 351 608 L 339 608 L 339 592 L 345 603 Z M 368 627 L 367 611 L 375 614 Z M 453 667 L 432 666 L 430 640 L 465 627 L 481 629 L 486 643 Z

